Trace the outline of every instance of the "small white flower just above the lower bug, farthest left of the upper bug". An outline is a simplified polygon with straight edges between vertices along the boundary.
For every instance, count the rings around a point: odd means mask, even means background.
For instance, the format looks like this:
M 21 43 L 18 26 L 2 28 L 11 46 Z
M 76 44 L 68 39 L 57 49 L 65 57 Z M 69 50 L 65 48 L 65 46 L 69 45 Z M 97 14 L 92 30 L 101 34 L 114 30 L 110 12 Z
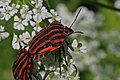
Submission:
M 13 35 L 13 41 L 12 41 L 12 47 L 13 49 L 20 49 L 20 47 L 25 47 L 25 44 L 22 42 L 23 37 L 22 35 L 19 35 L 19 37 L 14 34 Z

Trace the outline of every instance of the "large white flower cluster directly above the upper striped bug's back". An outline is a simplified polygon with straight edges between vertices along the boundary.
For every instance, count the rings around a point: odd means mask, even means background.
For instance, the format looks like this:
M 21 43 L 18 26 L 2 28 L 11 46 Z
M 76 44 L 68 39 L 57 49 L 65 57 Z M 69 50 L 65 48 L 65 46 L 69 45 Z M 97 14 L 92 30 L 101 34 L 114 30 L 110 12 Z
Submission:
M 53 9 L 48 12 L 42 0 L 33 0 L 31 4 L 35 7 L 30 9 L 28 5 L 22 5 L 21 16 L 14 16 L 14 29 L 25 30 L 25 26 L 31 25 L 35 31 L 39 32 L 42 29 L 40 27 L 42 20 L 50 18 L 50 23 L 54 20 L 60 21 L 61 18 Z

